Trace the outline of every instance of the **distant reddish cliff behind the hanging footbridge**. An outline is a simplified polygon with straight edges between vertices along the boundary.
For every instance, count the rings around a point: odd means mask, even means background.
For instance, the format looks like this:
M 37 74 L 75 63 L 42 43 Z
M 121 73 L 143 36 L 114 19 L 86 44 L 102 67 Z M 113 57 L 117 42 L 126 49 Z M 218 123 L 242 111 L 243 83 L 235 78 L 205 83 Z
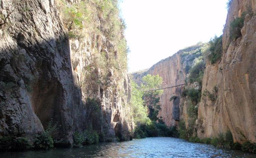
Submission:
M 146 71 L 132 73 L 133 80 L 137 84 L 141 84 L 143 76 L 158 74 L 163 78 L 162 87 L 185 83 L 186 76 L 194 60 L 201 56 L 202 45 L 198 44 L 179 50 L 173 56 L 161 60 Z M 160 96 L 161 110 L 158 116 L 163 118 L 167 126 L 174 126 L 180 120 L 180 114 L 182 113 L 180 112 L 180 105 L 184 103 L 184 99 L 180 97 L 181 92 L 182 87 L 168 88 L 164 89 L 164 93 Z M 170 101 L 172 96 L 178 97 Z

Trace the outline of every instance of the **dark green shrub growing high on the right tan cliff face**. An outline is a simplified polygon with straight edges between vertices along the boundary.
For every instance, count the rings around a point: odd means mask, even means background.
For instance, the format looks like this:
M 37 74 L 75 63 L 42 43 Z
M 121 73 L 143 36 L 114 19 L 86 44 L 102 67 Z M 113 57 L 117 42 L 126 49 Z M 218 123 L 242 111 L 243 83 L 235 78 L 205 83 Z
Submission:
M 246 15 L 246 12 L 244 12 L 240 18 L 235 18 L 230 23 L 230 39 L 231 39 L 231 41 L 242 36 L 241 30 L 242 30 L 242 27 L 244 26 L 245 15 Z

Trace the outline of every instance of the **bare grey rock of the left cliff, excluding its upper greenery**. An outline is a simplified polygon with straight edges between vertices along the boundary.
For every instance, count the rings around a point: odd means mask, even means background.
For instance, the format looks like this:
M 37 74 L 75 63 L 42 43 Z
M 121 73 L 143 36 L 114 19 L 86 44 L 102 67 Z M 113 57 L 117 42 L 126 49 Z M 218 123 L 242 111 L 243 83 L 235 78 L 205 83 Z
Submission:
M 12 14 L 0 26 L 0 135 L 32 139 L 53 119 L 61 125 L 62 143 L 72 144 L 73 133 L 86 130 L 89 120 L 92 128 L 111 140 L 129 139 L 133 124 L 126 117 L 129 107 L 125 105 L 131 95 L 127 72 L 92 66 L 97 80 L 88 80 L 85 69 L 92 65 L 92 53 L 103 48 L 114 53 L 115 44 L 104 33 L 89 32 L 82 39 L 70 39 L 56 3 L 1 1 L 1 15 Z M 100 23 L 101 18 L 96 21 Z M 116 51 L 115 56 L 118 58 Z M 96 87 L 97 98 L 102 100 L 100 115 L 89 119 L 85 82 Z

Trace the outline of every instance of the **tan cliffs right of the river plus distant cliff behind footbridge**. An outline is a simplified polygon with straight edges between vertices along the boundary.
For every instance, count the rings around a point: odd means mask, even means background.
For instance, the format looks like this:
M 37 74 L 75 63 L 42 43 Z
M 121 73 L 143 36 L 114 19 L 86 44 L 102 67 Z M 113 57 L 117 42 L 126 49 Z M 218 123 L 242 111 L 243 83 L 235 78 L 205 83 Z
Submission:
M 219 134 L 231 131 L 235 142 L 256 142 L 256 3 L 255 0 L 232 0 L 228 9 L 226 25 L 223 30 L 221 59 L 212 64 L 207 58 L 202 80 L 201 101 L 196 105 L 198 117 L 197 131 L 199 138 L 218 137 Z M 242 36 L 231 39 L 231 23 L 245 14 Z M 173 56 L 161 60 L 150 69 L 132 73 L 133 80 L 141 84 L 147 74 L 159 75 L 163 78 L 163 86 L 179 85 L 186 82 L 189 69 L 201 54 L 203 44 L 191 46 L 178 51 Z M 199 53 L 196 56 L 196 53 Z M 186 69 L 188 68 L 188 69 Z M 198 89 L 198 82 L 188 83 L 186 87 Z M 203 95 L 217 89 L 215 102 Z M 162 117 L 168 126 L 179 124 L 180 120 L 188 123 L 189 102 L 182 97 L 185 88 L 164 89 L 161 98 Z M 170 101 L 172 96 L 176 99 Z

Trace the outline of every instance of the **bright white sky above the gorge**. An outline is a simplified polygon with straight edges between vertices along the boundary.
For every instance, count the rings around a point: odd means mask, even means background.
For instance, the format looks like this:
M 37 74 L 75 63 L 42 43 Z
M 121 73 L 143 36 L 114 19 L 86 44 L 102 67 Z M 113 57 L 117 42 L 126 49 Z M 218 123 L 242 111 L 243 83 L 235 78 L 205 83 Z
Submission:
M 128 71 L 153 64 L 198 42 L 220 36 L 228 0 L 122 0 L 129 46 Z

